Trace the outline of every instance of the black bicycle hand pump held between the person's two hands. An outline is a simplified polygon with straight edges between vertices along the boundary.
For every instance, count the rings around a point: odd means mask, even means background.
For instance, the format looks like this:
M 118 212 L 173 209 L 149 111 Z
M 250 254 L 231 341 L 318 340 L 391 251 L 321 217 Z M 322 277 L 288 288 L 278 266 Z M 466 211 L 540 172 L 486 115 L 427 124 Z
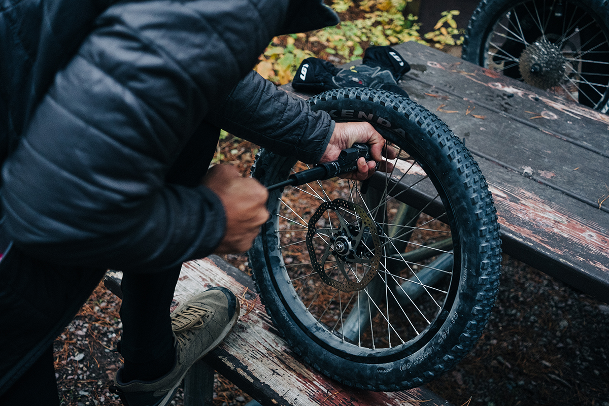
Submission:
M 270 192 L 284 186 L 300 186 L 301 184 L 315 180 L 326 180 L 342 175 L 343 173 L 351 172 L 357 169 L 357 159 L 362 158 L 362 156 L 366 159 L 366 162 L 372 159 L 370 147 L 361 142 L 356 142 L 351 148 L 343 149 L 340 152 L 339 159 L 336 161 L 320 164 L 314 168 L 293 173 L 287 180 L 275 183 L 267 187 L 267 190 Z

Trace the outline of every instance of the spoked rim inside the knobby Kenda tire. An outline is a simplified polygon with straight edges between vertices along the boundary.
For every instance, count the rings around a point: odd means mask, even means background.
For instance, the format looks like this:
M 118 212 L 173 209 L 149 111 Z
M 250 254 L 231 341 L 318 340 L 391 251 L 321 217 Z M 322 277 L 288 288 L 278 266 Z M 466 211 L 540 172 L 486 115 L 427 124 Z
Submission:
M 359 182 L 318 181 L 286 188 L 276 206 L 283 264 L 273 278 L 286 309 L 320 346 L 363 362 L 390 362 L 402 357 L 404 348 L 421 348 L 442 325 L 460 279 L 460 253 L 454 251 L 459 237 L 451 233 L 454 213 L 445 208 L 444 192 L 435 189 L 435 174 L 398 150 L 401 158 L 390 175 L 409 180 L 407 186 L 383 176 L 375 180 L 381 189 L 369 188 L 364 195 Z M 306 166 L 299 164 L 293 170 L 302 169 Z M 409 203 L 404 206 L 400 198 L 414 189 L 420 201 L 402 198 Z M 370 231 L 362 233 L 362 215 L 350 206 L 323 207 L 336 199 L 363 211 L 378 242 Z M 404 211 L 406 219 L 400 217 Z M 347 251 L 339 248 L 341 237 Z M 348 250 L 355 251 L 353 257 Z M 345 286 L 348 282 L 357 286 Z

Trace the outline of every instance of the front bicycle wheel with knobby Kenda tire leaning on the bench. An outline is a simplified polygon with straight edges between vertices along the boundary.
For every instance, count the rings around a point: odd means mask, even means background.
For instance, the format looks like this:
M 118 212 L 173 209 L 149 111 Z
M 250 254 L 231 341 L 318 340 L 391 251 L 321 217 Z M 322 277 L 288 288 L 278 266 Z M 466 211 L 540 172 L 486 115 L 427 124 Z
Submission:
M 392 173 L 269 196 L 249 252 L 262 303 L 289 344 L 329 377 L 367 390 L 417 387 L 456 365 L 495 301 L 501 248 L 484 177 L 459 139 L 410 99 L 345 88 L 309 99 L 369 121 L 399 150 Z M 306 169 L 263 151 L 263 184 Z

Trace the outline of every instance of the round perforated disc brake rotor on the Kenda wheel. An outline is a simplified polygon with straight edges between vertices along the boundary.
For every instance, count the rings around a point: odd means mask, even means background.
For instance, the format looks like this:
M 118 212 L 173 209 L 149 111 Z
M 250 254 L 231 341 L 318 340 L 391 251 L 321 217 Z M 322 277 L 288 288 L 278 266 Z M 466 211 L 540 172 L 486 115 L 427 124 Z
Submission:
M 317 227 L 326 211 L 336 214 L 337 227 Z M 351 221 L 345 219 L 347 215 Z M 321 252 L 315 251 L 315 237 L 321 237 L 325 245 Z M 364 289 L 378 272 L 381 259 L 378 227 L 364 208 L 350 201 L 325 201 L 317 208 L 309 220 L 306 247 L 311 265 L 322 281 L 342 292 Z

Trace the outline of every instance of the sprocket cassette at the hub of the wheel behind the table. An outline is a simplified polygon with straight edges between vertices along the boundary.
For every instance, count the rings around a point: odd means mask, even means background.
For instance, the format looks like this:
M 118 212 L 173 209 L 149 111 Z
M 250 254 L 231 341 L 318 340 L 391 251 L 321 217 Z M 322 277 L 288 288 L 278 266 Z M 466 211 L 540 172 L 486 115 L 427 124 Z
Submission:
M 525 83 L 546 90 L 563 80 L 566 60 L 555 44 L 540 38 L 520 55 L 519 70 Z

